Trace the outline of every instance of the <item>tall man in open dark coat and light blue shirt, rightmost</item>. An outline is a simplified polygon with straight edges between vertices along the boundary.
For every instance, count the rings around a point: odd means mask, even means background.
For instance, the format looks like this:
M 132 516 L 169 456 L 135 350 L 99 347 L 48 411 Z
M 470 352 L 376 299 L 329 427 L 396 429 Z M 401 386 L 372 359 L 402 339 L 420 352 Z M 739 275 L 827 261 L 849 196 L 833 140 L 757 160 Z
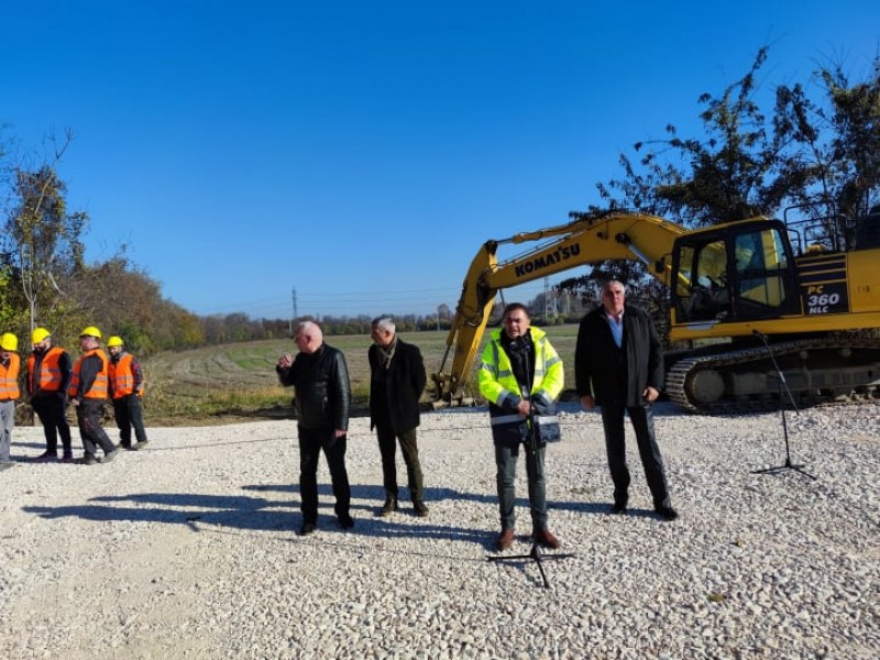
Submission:
M 606 282 L 602 306 L 581 319 L 574 353 L 575 384 L 581 405 L 602 407 L 608 468 L 614 482 L 616 514 L 626 514 L 629 469 L 626 464 L 624 411 L 636 442 L 654 510 L 664 520 L 678 518 L 669 495 L 663 459 L 653 430 L 651 404 L 663 387 L 663 353 L 651 318 L 626 305 L 624 285 Z

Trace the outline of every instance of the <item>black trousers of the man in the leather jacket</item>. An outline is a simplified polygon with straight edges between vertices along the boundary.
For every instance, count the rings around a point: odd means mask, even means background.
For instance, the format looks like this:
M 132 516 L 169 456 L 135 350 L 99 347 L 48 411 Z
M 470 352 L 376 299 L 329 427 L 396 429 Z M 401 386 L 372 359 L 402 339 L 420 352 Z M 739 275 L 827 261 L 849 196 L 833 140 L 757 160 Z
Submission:
M 330 480 L 333 484 L 337 516 L 348 516 L 351 507 L 351 486 L 345 471 L 345 447 L 348 436 L 337 438 L 331 428 L 304 429 L 299 433 L 299 495 L 302 521 L 315 525 L 318 521 L 318 459 L 323 451 Z

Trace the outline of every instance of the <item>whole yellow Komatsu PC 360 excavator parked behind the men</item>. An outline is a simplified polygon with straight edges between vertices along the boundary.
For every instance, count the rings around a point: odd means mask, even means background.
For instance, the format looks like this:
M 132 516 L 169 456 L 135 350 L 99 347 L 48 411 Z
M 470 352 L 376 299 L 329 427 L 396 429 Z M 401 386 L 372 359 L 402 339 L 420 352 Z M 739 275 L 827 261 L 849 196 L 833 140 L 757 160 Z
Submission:
M 432 375 L 439 405 L 462 403 L 498 290 L 606 260 L 638 260 L 669 287 L 670 339 L 691 348 L 667 353 L 666 394 L 689 410 L 778 400 L 768 345 L 801 405 L 880 396 L 880 208 L 848 250 L 811 242 L 809 224 L 768 218 L 698 230 L 631 211 L 571 218 L 481 246 Z M 498 261 L 499 245 L 531 242 Z

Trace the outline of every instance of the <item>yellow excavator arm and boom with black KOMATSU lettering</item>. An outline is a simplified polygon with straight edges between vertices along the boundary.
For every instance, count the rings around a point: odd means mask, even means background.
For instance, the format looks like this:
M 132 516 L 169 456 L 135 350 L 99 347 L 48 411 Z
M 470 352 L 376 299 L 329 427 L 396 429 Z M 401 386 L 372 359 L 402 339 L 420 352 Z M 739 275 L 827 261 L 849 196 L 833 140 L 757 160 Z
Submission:
M 443 362 L 432 376 L 438 402 L 462 399 L 463 385 L 499 289 L 605 260 L 638 260 L 648 266 L 651 275 L 669 286 L 672 245 L 685 232 L 682 227 L 656 216 L 627 211 L 572 213 L 572 218 L 566 224 L 486 241 L 481 246 L 462 285 Z M 498 262 L 499 245 L 530 242 L 541 243 L 524 254 Z M 450 353 L 452 364 L 446 372 Z

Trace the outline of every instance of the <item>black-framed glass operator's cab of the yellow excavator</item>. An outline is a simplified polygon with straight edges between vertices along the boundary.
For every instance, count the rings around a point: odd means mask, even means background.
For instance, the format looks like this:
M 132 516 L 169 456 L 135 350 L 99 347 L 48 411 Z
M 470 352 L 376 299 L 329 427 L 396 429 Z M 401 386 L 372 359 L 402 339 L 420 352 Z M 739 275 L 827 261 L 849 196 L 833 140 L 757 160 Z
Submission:
M 777 318 L 799 309 L 784 226 L 747 220 L 683 235 L 672 255 L 676 323 Z

